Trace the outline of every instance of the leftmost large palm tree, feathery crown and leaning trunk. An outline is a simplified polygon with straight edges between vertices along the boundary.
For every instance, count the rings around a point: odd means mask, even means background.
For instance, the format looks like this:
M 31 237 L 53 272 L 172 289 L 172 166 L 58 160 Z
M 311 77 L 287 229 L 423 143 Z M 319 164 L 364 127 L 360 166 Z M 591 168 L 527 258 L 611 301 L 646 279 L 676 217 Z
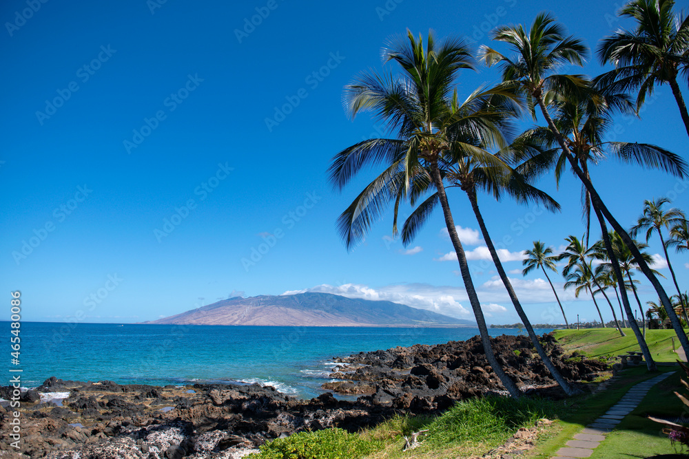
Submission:
M 345 87 L 345 100 L 353 118 L 360 111 L 373 111 L 398 131 L 399 139 L 371 139 L 359 142 L 338 153 L 329 168 L 331 183 L 342 189 L 362 167 L 383 163 L 387 169 L 367 186 L 340 216 L 338 226 L 347 248 L 352 248 L 384 209 L 386 202 L 404 196 L 411 190 L 417 175 L 428 172 L 428 179 L 438 194 L 447 231 L 449 233 L 464 287 L 480 330 L 481 340 L 493 371 L 513 397 L 520 396 L 514 381 L 504 372 L 495 358 L 480 301 L 469 273 L 469 265 L 457 236 L 439 164 L 448 150 L 445 127 L 455 119 L 451 100 L 456 98 L 452 85 L 457 72 L 473 69 L 469 46 L 464 41 L 448 39 L 436 44 L 432 34 L 424 42 L 408 31 L 407 41 L 389 43 L 383 50 L 386 61 L 395 61 L 400 74 L 380 75 L 364 72 Z M 454 96 L 454 97 L 453 97 Z M 473 98 L 488 98 L 492 94 L 475 94 Z M 464 119 L 474 132 L 486 139 L 495 138 L 495 129 L 484 114 Z M 401 180 L 400 180 L 401 177 Z M 395 204 L 395 209 L 397 208 Z

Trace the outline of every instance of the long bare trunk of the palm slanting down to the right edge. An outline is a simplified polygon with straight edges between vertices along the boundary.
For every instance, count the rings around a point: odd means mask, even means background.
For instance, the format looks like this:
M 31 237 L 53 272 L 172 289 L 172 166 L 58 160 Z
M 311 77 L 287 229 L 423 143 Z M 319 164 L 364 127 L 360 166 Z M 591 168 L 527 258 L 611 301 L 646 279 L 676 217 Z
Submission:
M 543 116 L 546 119 L 546 122 L 548 123 L 548 129 L 551 129 L 551 132 L 553 132 L 553 135 L 557 139 L 557 143 L 562 148 L 562 151 L 564 151 L 564 153 L 566 154 L 567 160 L 569 161 L 572 170 L 577 174 L 579 180 L 582 180 L 584 186 L 586 186 L 586 189 L 590 193 L 591 203 L 594 206 L 597 206 L 601 213 L 603 213 L 606 220 L 610 222 L 610 225 L 613 226 L 613 229 L 617 231 L 619 237 L 621 237 L 624 244 L 628 246 L 629 250 L 632 252 L 632 255 L 634 255 L 634 259 L 637 262 L 639 269 L 648 278 L 653 288 L 655 288 L 655 291 L 657 292 L 661 303 L 663 303 L 663 307 L 668 313 L 668 317 L 670 318 L 670 322 L 672 323 L 672 328 L 674 328 L 675 332 L 677 333 L 677 338 L 679 339 L 679 342 L 682 345 L 682 349 L 684 350 L 684 352 L 686 352 L 687 355 L 689 355 L 689 339 L 687 339 L 687 335 L 684 333 L 681 323 L 679 323 L 679 319 L 677 318 L 677 314 L 675 314 L 675 310 L 672 309 L 672 302 L 668 298 L 668 294 L 665 292 L 663 286 L 660 284 L 657 277 L 655 277 L 646 261 L 644 261 L 644 257 L 641 256 L 641 252 L 639 251 L 637 245 L 634 244 L 633 239 L 630 237 L 627 231 L 621 226 L 621 224 L 619 224 L 619 222 L 615 220 L 615 217 L 613 217 L 613 214 L 610 213 L 606 205 L 603 203 L 603 200 L 601 200 L 598 192 L 594 188 L 591 181 L 586 178 L 586 175 L 584 175 L 584 172 L 579 167 L 579 164 L 577 164 L 577 161 L 573 157 L 572 152 L 567 147 L 564 137 L 557 130 L 557 127 L 553 122 L 553 118 L 551 118 L 550 114 L 548 114 L 548 110 L 544 105 L 543 98 L 540 96 L 540 94 L 533 94 L 533 96 L 535 97 L 536 102 L 538 103 L 538 106 L 540 107 Z

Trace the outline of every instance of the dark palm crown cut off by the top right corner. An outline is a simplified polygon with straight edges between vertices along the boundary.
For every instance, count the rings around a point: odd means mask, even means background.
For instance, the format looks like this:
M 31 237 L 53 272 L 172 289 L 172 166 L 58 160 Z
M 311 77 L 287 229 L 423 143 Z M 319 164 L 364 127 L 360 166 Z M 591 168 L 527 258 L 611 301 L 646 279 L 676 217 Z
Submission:
M 598 45 L 601 64 L 615 65 L 598 82 L 622 91 L 638 89 L 637 110 L 656 85 L 668 83 L 689 134 L 689 114 L 677 84 L 679 73 L 688 72 L 689 21 L 673 6 L 675 0 L 635 0 L 619 10 L 618 16 L 635 19 L 636 28 L 617 30 Z

